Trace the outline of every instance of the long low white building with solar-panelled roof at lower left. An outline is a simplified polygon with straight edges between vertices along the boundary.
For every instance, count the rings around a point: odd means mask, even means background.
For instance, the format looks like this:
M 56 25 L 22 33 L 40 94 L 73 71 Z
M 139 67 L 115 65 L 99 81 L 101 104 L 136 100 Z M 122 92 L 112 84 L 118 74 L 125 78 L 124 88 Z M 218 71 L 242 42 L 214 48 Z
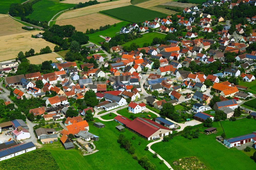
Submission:
M 36 146 L 33 142 L 20 143 L 14 140 L 1 143 L 0 148 L 0 161 L 36 150 Z

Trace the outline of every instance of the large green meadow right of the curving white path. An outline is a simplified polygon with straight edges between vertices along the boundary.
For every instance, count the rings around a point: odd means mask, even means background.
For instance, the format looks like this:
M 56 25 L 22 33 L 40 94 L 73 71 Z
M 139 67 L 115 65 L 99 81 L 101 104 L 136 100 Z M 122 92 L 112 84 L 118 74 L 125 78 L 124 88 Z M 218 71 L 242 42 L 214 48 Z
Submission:
M 237 127 L 236 125 L 238 125 L 239 122 L 240 120 L 237 120 L 235 122 L 237 124 L 232 124 L 234 122 L 225 121 L 225 123 L 230 126 L 225 132 L 227 133 L 229 129 L 232 131 L 240 131 L 241 128 L 243 128 L 243 134 L 251 133 L 251 129 L 246 129 L 247 126 Z M 248 123 L 252 125 L 251 122 Z M 255 162 L 242 151 L 236 148 L 228 149 L 217 142 L 215 137 L 221 135 L 223 130 L 217 122 L 214 122 L 213 127 L 217 127 L 217 135 L 204 135 L 200 133 L 199 138 L 192 140 L 182 136 L 176 136 L 169 142 L 160 142 L 152 145 L 151 149 L 163 157 L 174 169 L 177 168 L 172 165 L 173 161 L 190 156 L 196 156 L 208 169 L 245 169 L 244 165 L 246 165 L 246 167 L 255 167 Z M 201 128 L 200 130 L 203 131 L 204 129 L 206 128 Z

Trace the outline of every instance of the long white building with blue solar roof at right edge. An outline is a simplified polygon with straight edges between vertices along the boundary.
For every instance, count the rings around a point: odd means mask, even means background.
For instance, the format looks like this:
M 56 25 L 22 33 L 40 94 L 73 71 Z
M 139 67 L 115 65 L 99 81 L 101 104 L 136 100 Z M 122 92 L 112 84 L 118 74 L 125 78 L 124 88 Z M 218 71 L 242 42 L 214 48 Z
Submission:
M 233 4 L 233 3 L 231 3 L 231 4 Z M 250 134 L 242 135 L 242 136 L 238 136 L 238 137 L 234 137 L 234 138 L 224 139 L 223 143 L 227 147 L 232 148 L 232 147 L 236 147 L 236 146 L 241 146 L 241 144 L 245 144 L 248 142 L 256 143 L 256 132 L 252 132 Z

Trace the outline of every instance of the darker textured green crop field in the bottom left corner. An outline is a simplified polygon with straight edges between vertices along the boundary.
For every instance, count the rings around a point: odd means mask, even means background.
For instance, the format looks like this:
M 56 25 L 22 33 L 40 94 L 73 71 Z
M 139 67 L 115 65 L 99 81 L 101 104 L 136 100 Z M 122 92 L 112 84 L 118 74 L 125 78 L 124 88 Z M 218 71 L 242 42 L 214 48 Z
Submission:
M 39 162 L 40 163 L 39 163 Z M 37 149 L 0 162 L 1 170 L 10 169 L 60 169 L 51 152 Z

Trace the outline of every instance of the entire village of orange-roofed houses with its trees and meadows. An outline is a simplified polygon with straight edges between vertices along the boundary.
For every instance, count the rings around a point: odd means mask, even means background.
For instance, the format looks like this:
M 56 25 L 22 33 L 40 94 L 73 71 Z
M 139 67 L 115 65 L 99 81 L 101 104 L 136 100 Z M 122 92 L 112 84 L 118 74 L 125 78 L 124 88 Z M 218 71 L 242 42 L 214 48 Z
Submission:
M 56 169 L 63 160 L 119 169 L 107 162 L 124 158 L 125 169 L 218 169 L 213 157 L 225 156 L 220 169 L 245 169 L 240 159 L 255 167 L 256 13 L 239 14 L 249 6 L 256 1 L 190 3 L 94 33 L 42 27 L 32 38 L 54 51 L 0 62 L 0 163 L 47 150 Z M 29 60 L 48 54 L 55 60 Z

